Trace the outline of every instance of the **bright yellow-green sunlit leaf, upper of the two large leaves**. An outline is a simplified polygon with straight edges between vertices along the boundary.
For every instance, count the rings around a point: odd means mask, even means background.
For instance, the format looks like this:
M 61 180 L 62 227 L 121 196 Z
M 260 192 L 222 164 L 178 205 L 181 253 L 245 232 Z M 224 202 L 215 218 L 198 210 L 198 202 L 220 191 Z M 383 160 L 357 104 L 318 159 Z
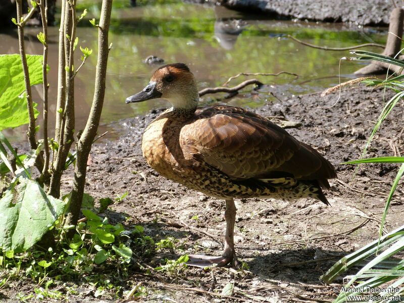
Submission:
M 26 55 L 26 57 L 31 85 L 42 83 L 42 56 Z M 34 109 L 35 117 L 38 114 L 39 112 Z M 20 55 L 0 55 L 0 130 L 17 127 L 28 121 Z

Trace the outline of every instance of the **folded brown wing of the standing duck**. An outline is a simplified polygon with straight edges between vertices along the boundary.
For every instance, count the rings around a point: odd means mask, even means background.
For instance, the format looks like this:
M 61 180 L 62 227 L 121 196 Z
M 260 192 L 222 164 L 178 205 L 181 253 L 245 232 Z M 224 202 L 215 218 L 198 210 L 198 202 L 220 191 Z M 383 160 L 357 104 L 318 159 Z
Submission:
M 293 176 L 327 179 L 335 170 L 316 150 L 294 139 L 269 120 L 240 108 L 199 108 L 183 126 L 180 144 L 200 162 L 216 167 L 233 179 Z

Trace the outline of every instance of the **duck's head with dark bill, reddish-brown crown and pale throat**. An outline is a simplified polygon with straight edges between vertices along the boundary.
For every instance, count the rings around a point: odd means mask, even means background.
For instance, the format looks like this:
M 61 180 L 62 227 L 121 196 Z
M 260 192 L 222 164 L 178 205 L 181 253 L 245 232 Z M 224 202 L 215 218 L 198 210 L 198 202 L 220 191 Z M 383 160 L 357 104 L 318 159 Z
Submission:
M 195 109 L 199 100 L 196 81 L 183 63 L 168 64 L 157 69 L 142 91 L 127 97 L 125 102 L 167 99 L 174 109 Z

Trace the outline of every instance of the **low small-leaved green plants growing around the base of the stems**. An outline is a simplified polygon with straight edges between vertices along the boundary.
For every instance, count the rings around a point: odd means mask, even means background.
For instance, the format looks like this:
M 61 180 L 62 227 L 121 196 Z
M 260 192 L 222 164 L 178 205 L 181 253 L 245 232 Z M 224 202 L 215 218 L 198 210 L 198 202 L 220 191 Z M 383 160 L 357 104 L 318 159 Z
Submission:
M 86 220 L 76 227 L 64 226 L 63 216 L 56 221 L 53 227 L 57 235 L 55 247 L 45 251 L 31 248 L 19 254 L 13 250 L 4 252 L 0 256 L 0 274 L 7 272 L 7 279 L 0 280 L 0 288 L 27 277 L 37 286 L 34 294 L 20 294 L 21 301 L 33 296 L 43 300 L 63 299 L 67 293 L 77 292 L 74 286 L 66 287 L 66 294 L 51 290 L 53 284 L 62 283 L 63 276 L 84 279 L 94 288 L 94 296 L 120 297 L 122 280 L 127 279 L 129 268 L 136 264 L 142 268 L 139 262 L 156 252 L 155 242 L 144 235 L 142 226 L 134 226 L 128 231 L 121 224 L 110 224 L 108 218 L 99 217 L 92 211 L 82 212 Z M 64 235 L 71 229 L 75 233 L 69 239 Z M 105 272 L 108 267 L 114 270 Z M 144 292 L 139 289 L 137 296 L 146 295 Z

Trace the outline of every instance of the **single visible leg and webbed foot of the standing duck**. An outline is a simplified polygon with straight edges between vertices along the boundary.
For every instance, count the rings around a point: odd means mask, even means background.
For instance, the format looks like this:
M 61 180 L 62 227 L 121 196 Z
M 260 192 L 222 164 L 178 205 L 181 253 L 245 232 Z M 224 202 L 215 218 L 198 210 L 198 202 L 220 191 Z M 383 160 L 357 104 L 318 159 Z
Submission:
M 226 211 L 224 213 L 226 219 L 226 238 L 224 242 L 224 250 L 221 257 L 212 257 L 205 255 L 188 255 L 189 261 L 187 265 L 205 268 L 217 264 L 218 267 L 225 266 L 235 257 L 234 250 L 234 222 L 236 219 L 236 206 L 234 199 L 226 200 Z

